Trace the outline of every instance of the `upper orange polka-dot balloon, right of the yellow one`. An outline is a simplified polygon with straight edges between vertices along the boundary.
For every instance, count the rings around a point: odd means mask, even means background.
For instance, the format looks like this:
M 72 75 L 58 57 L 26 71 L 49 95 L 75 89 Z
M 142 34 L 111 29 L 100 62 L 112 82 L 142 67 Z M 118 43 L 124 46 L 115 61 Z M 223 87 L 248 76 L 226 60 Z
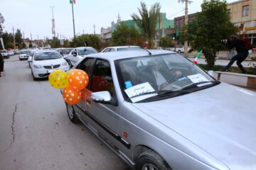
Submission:
M 68 72 L 68 82 L 74 89 L 82 90 L 88 85 L 89 77 L 82 69 L 71 69 Z

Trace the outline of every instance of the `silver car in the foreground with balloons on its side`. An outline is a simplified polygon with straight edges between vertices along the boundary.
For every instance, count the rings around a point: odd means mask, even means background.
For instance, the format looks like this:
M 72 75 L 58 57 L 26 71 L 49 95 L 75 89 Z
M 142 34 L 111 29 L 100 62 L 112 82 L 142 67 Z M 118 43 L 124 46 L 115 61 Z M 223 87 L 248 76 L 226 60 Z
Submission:
M 255 92 L 167 50 L 100 52 L 73 68 L 90 81 L 68 118 L 132 168 L 255 169 Z

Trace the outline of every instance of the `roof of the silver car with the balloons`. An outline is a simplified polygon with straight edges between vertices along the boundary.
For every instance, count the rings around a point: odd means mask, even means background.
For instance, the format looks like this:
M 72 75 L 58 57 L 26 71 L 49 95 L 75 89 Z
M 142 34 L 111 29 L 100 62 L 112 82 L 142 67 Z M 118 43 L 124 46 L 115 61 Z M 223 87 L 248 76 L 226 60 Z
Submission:
M 100 57 L 102 59 L 114 61 L 114 60 L 120 60 L 124 58 L 154 56 L 154 55 L 162 55 L 162 54 L 176 54 L 176 52 L 167 51 L 167 50 L 129 50 L 129 51 L 117 51 L 117 52 L 100 52 L 100 53 L 95 53 L 95 54 L 86 55 L 86 56 Z

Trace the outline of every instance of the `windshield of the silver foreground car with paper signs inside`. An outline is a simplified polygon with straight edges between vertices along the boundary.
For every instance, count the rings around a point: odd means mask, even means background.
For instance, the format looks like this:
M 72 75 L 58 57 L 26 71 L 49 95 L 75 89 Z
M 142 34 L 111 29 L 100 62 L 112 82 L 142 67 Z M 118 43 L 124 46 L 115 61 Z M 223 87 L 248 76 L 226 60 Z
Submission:
M 218 82 L 178 54 L 122 59 L 115 65 L 120 86 L 126 91 L 124 94 L 127 94 L 127 89 L 136 87 L 147 88 L 146 94 L 188 94 L 185 89 L 191 93 Z M 134 96 L 143 94 L 141 91 Z M 126 96 L 129 98 L 128 94 Z

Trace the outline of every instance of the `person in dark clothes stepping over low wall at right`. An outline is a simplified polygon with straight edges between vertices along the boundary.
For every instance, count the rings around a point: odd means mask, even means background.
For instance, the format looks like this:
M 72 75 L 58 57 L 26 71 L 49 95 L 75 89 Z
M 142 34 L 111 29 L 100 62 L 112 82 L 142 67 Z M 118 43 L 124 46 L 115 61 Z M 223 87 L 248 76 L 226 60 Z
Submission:
M 243 74 L 246 74 L 245 68 L 242 67 L 242 64 L 241 64 L 246 59 L 246 57 L 249 54 L 248 50 L 246 50 L 246 48 L 245 48 L 245 43 L 241 39 L 237 38 L 236 35 L 230 35 L 226 45 L 230 49 L 235 47 L 235 50 L 238 52 L 238 54 L 231 58 L 231 60 L 228 63 L 228 65 L 224 69 L 222 69 L 221 72 L 228 72 L 228 68 L 231 67 L 232 64 L 236 60 L 237 61 L 237 65 L 240 68 L 241 72 Z

